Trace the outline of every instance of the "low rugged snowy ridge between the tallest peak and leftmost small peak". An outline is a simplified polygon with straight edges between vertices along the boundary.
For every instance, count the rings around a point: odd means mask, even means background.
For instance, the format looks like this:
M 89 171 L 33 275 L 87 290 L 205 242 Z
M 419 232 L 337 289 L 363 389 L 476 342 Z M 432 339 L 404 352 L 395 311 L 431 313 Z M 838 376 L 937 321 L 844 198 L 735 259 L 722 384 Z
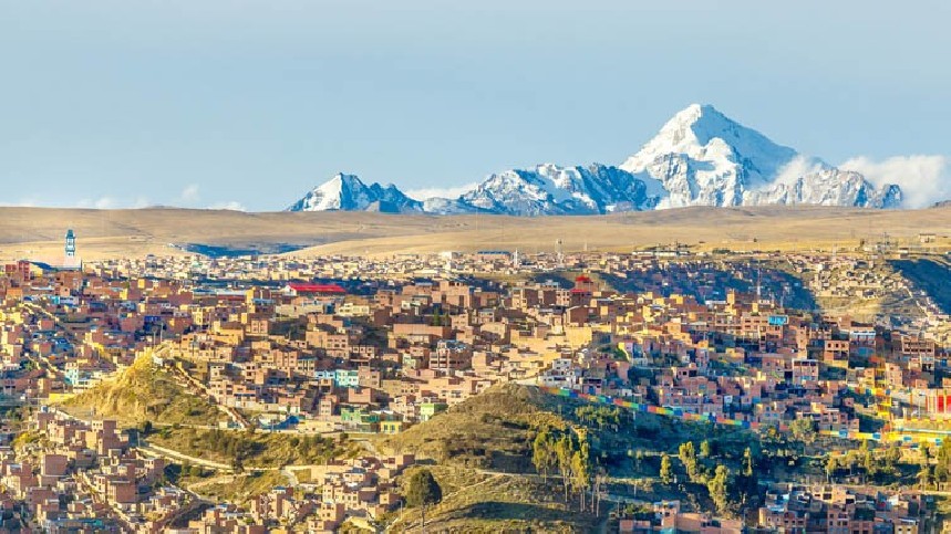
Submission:
M 495 213 L 589 214 L 651 209 L 659 200 L 653 192 L 617 167 L 545 164 L 492 175 L 459 200 Z

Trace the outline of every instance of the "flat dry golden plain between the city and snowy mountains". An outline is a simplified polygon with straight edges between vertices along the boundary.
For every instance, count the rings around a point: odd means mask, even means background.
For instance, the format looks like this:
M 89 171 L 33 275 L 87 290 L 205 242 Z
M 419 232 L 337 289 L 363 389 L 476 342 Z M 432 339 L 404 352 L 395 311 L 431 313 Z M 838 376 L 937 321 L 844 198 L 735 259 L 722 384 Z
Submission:
M 310 247 L 290 253 L 370 254 L 521 249 L 626 251 L 681 243 L 701 249 L 804 250 L 854 247 L 883 233 L 914 240 L 939 235 L 948 247 L 951 207 L 866 210 L 824 207 L 684 208 L 597 217 L 410 216 L 366 212 L 244 213 L 237 211 L 141 209 L 80 210 L 0 208 L 0 260 L 54 259 L 66 228 L 79 235 L 85 260 L 180 254 L 169 243 Z M 755 242 L 754 242 L 755 239 Z

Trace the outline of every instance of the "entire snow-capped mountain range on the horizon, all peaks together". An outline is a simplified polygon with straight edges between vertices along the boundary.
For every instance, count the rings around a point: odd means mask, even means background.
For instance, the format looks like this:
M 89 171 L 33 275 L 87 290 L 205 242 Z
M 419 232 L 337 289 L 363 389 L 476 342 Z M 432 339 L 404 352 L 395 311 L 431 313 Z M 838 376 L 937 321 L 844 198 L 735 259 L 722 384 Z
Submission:
M 877 188 L 858 172 L 775 144 L 713 106 L 693 104 L 620 167 L 544 164 L 510 169 L 488 176 L 457 198 L 424 201 L 395 186 L 368 187 L 355 176 L 338 175 L 289 209 L 541 216 L 686 206 L 897 208 L 901 201 L 896 185 Z

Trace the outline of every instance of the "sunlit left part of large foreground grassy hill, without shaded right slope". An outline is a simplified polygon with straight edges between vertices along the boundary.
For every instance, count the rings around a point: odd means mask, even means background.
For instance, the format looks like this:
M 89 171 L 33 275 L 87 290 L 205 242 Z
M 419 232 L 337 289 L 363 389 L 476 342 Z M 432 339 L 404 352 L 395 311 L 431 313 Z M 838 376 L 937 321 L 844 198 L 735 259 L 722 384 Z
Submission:
M 430 514 L 433 532 L 590 532 L 591 514 L 559 502 L 552 481 L 530 475 L 538 429 L 570 426 L 558 415 L 559 400 L 534 387 L 494 386 L 378 447 L 438 462 L 430 469 L 444 499 Z M 420 532 L 415 512 L 393 530 Z

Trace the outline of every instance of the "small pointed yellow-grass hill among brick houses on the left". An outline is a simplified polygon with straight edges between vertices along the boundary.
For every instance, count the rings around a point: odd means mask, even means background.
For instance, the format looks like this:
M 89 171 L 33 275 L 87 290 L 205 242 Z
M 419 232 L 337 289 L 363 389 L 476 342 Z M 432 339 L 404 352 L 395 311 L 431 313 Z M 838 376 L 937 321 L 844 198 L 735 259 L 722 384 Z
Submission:
M 190 395 L 147 356 L 136 359 L 114 380 L 65 401 L 62 408 L 83 418 L 116 419 L 124 426 L 146 420 L 156 425 L 215 425 L 227 420 L 215 406 Z

